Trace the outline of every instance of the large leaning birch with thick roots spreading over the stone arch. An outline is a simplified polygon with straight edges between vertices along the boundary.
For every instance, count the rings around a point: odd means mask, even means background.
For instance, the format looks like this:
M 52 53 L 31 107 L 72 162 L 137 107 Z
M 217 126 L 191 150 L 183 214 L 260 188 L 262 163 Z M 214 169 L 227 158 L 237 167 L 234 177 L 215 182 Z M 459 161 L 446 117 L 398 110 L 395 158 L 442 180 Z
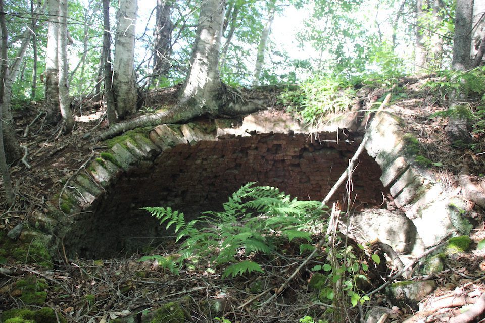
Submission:
M 180 102 L 169 111 L 118 123 L 96 139 L 105 140 L 136 127 L 185 122 L 204 114 L 235 116 L 260 109 L 257 100 L 224 102 L 221 98 L 227 90 L 218 70 L 224 8 L 225 0 L 207 0 L 202 4 L 190 71 L 180 92 Z

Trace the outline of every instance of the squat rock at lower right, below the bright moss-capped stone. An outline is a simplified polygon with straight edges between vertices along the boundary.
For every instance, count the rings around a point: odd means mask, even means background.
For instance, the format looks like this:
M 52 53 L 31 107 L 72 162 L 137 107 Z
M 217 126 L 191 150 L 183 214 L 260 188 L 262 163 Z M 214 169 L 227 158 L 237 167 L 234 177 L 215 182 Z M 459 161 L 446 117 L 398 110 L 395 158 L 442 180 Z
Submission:
M 419 302 L 431 294 L 436 288 L 434 281 L 403 281 L 386 287 L 387 297 L 391 303 L 400 307 L 410 306 L 419 310 Z

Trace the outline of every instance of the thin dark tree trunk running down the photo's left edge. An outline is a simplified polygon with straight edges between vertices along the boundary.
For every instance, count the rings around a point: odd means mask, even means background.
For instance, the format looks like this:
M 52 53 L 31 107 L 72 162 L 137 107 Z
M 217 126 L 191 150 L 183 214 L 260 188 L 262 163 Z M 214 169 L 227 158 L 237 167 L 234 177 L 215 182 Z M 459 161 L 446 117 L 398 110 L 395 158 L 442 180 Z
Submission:
M 4 2 L 0 0 L 0 31 L 2 32 L 2 50 L 1 50 L 1 58 L 2 64 L 0 68 L 0 102 L 2 102 L 2 107 L 4 103 L 4 98 L 6 96 L 6 89 L 4 84 L 7 82 L 8 78 L 8 71 L 9 71 L 9 63 L 8 63 L 8 53 L 7 53 L 7 26 L 5 23 L 5 12 L 4 12 Z M 9 104 L 10 105 L 10 104 Z M 0 134 L 3 132 L 3 118 L 2 118 L 2 110 L 0 109 Z M 9 166 L 7 164 L 6 159 L 6 151 L 4 149 L 4 137 L 0 135 L 0 171 L 2 172 L 2 179 L 3 179 L 3 186 L 5 188 L 5 196 L 7 199 L 7 204 L 13 205 L 15 201 L 15 193 L 12 188 L 12 180 L 10 178 L 10 171 Z

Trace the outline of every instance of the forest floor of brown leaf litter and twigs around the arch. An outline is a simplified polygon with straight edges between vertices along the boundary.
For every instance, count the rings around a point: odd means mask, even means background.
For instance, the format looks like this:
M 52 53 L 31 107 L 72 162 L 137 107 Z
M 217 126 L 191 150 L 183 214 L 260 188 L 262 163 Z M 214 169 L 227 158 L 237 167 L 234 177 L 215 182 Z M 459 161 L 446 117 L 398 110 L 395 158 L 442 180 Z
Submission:
M 425 158 L 423 166 L 433 171 L 450 190 L 456 190 L 459 187 L 457 176 L 463 164 L 468 165 L 472 177 L 483 177 L 485 163 L 480 153 L 485 151 L 485 136 L 482 133 L 473 135 L 473 150 L 452 147 L 445 134 L 446 120 L 430 118 L 431 114 L 446 110 L 446 100 L 423 90 L 422 85 L 426 81 L 429 78 L 401 79 L 399 89 L 391 90 L 392 109 L 405 120 L 406 131 L 419 141 L 418 154 Z M 284 109 L 278 104 L 277 89 L 261 91 L 267 97 L 269 109 Z M 389 89 L 364 87 L 359 91 L 359 101 L 365 102 L 385 96 Z M 477 102 L 471 100 L 470 104 L 476 106 Z M 141 111 L 156 111 L 174 103 L 176 88 L 154 90 Z M 53 201 L 63 181 L 93 154 L 106 148 L 103 143 L 91 141 L 108 128 L 99 106 L 99 102 L 92 100 L 76 102 L 78 122 L 70 135 L 63 135 L 59 129 L 43 123 L 41 103 L 33 102 L 15 111 L 17 136 L 28 154 L 24 158 L 26 163 L 19 162 L 11 168 L 16 204 L 9 208 L 4 194 L 0 196 L 0 231 L 9 231 L 17 223 L 26 222 L 32 214 L 44 212 L 46 202 Z M 467 211 L 473 215 L 471 220 L 475 224 L 470 235 L 473 241 L 470 251 L 448 257 L 444 270 L 439 273 L 413 278 L 434 280 L 438 285 L 438 289 L 421 302 L 419 313 L 425 315 L 415 321 L 448 321 L 450 316 L 460 312 L 463 305 L 474 302 L 485 291 L 485 251 L 478 249 L 478 242 L 485 238 L 484 214 L 473 203 L 469 203 Z M 315 237 L 317 240 L 318 237 Z M 168 241 L 152 252 L 168 255 L 176 252 L 176 246 Z M 309 261 L 278 298 L 265 303 L 265 299 L 305 260 L 307 255 L 300 254 L 296 244 L 281 246 L 276 259 L 261 256 L 264 274 L 253 273 L 231 279 L 197 268 L 184 269 L 174 275 L 154 261 L 139 261 L 141 256 L 104 260 L 65 259 L 61 256 L 50 269 L 0 257 L 3 268 L 0 271 L 0 313 L 22 307 L 16 282 L 28 275 L 43 279 L 48 285 L 45 288 L 47 298 L 42 306 L 58 310 L 69 322 L 107 322 L 133 314 L 139 317 L 143 311 L 161 308 L 174 300 L 191 315 L 187 321 L 211 321 L 209 317 L 217 316 L 232 323 L 298 322 L 305 315 L 316 320 L 331 304 L 319 300 L 308 286 L 313 275 L 311 268 L 321 263 L 318 258 Z M 369 290 L 378 288 L 392 276 L 392 265 L 389 264 L 388 268 L 379 281 L 368 287 Z M 464 298 L 466 295 L 469 297 Z M 458 298 L 464 301 L 454 302 Z M 439 300 L 446 301 L 438 303 Z M 261 304 L 264 306 L 258 306 Z M 390 304 L 381 291 L 363 306 L 347 308 L 344 316 L 350 322 L 362 321 L 357 317 L 377 305 L 390 308 L 387 322 L 402 322 L 414 314 L 409 307 Z M 59 317 L 57 319 L 60 321 Z

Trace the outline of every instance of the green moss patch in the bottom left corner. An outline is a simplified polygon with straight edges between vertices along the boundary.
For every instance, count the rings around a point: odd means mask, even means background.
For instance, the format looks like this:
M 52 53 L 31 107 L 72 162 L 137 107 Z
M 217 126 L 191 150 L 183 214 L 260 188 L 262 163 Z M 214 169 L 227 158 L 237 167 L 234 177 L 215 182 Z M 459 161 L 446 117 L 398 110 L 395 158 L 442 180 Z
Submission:
M 0 321 L 4 323 L 66 323 L 66 319 L 54 312 L 52 308 L 43 307 L 39 310 L 11 309 L 2 313 Z M 59 319 L 59 320 L 58 320 Z

